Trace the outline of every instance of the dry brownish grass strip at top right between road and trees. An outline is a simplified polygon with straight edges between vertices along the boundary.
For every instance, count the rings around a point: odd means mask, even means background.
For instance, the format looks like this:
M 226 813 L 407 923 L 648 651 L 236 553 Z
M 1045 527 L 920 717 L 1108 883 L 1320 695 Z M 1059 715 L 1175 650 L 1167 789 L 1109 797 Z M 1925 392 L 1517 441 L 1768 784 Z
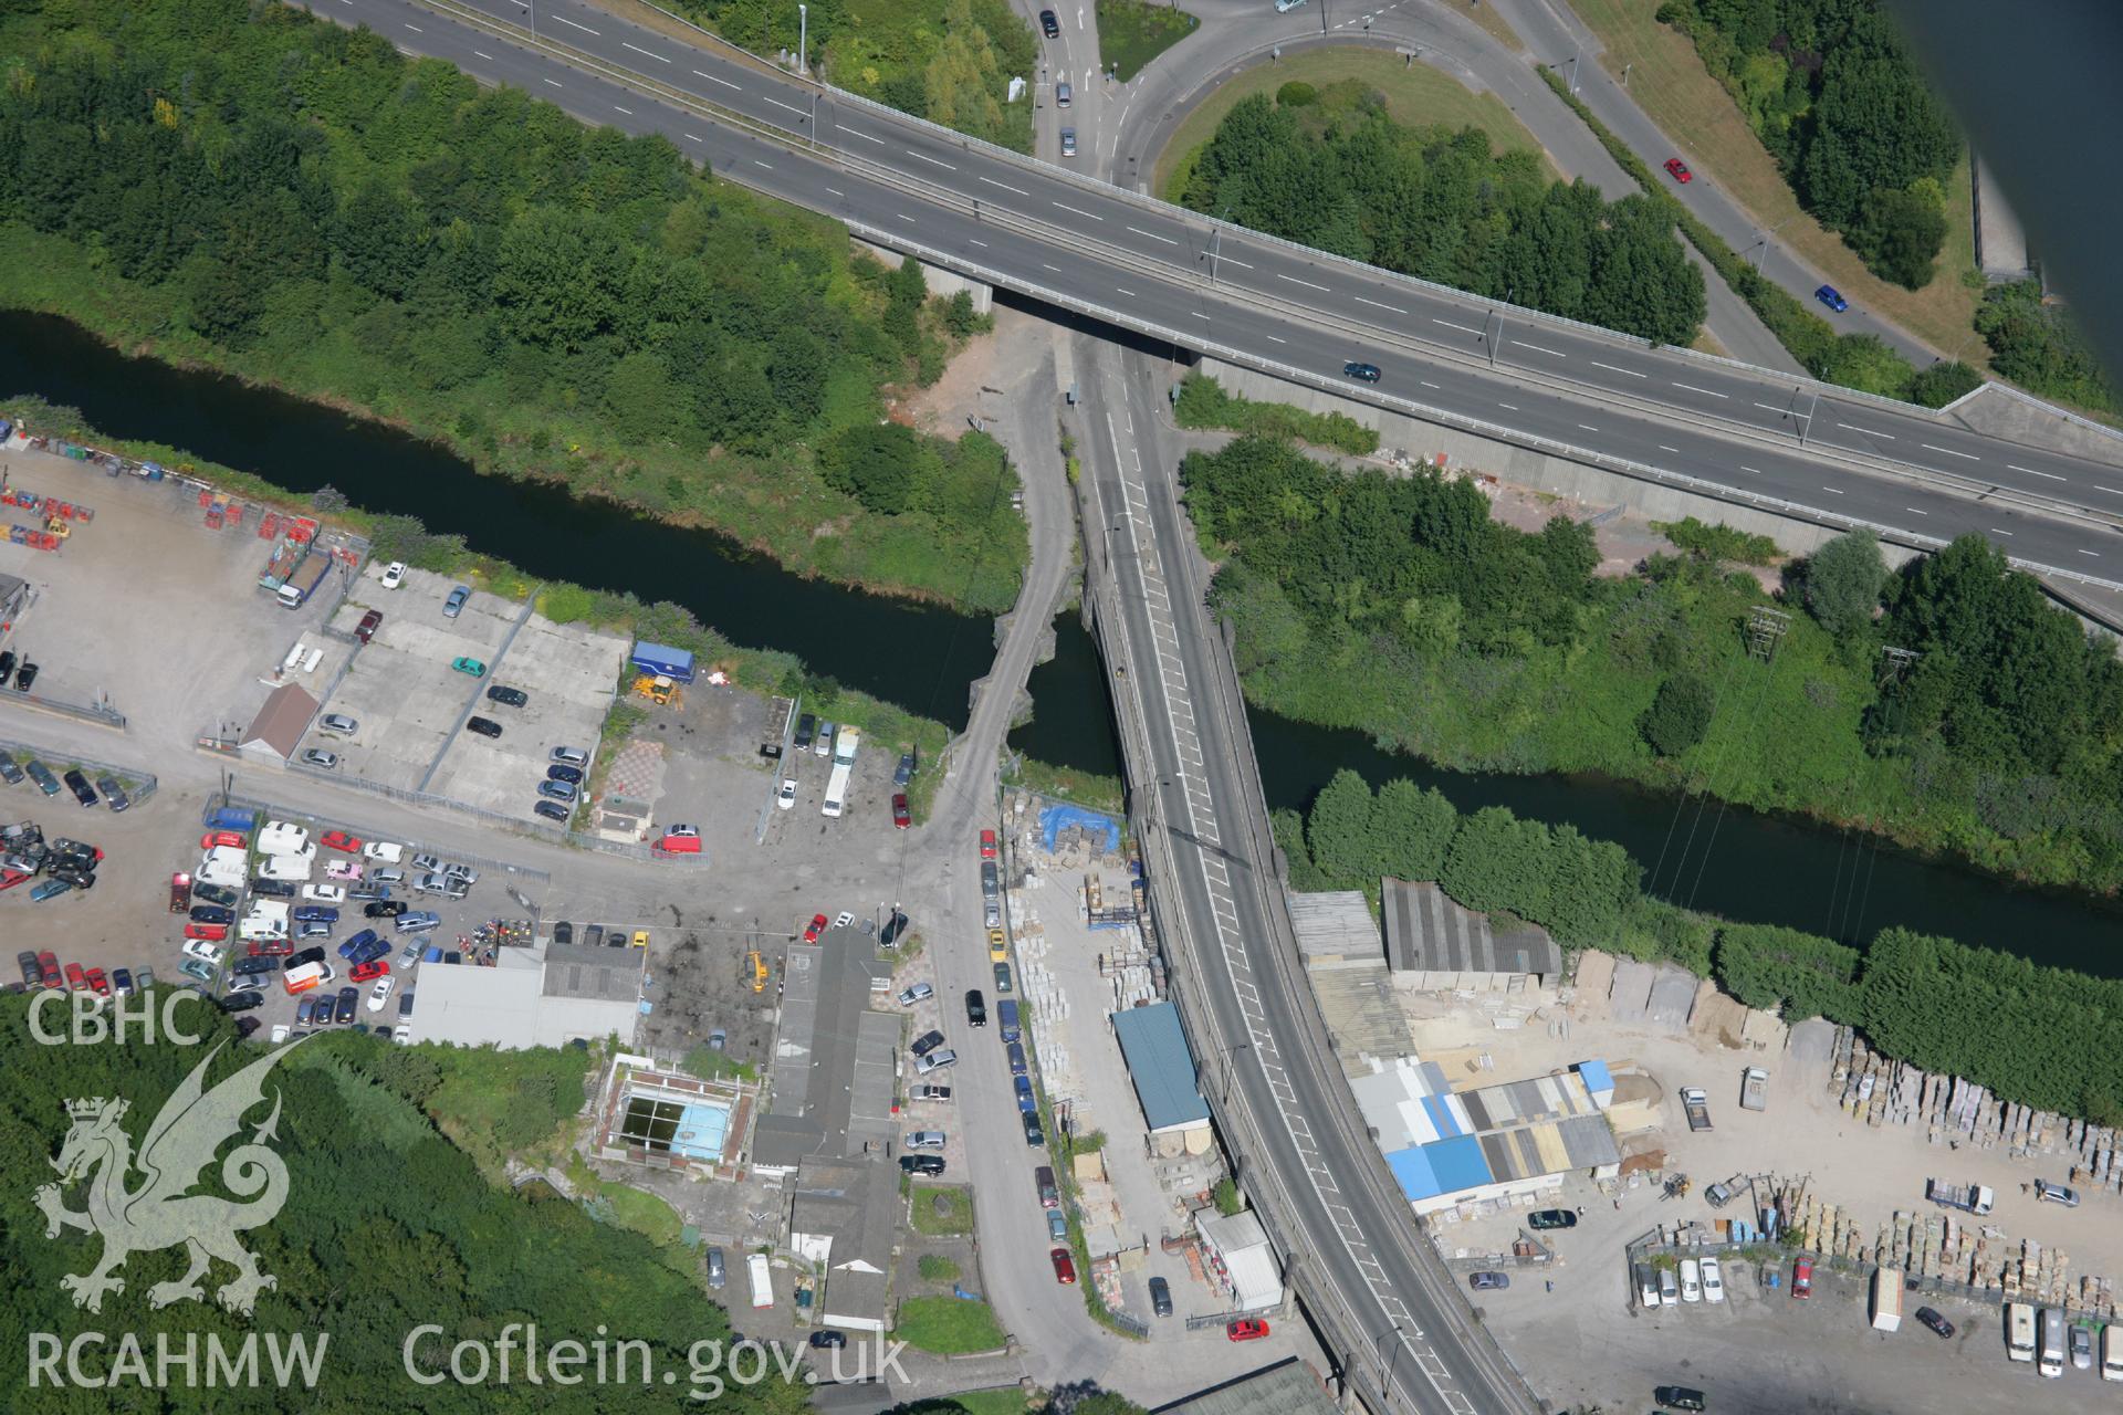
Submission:
M 1981 291 L 1962 284 L 1962 272 L 1974 267 L 1966 159 L 1947 182 L 1947 246 L 1938 255 L 1938 274 L 1921 291 L 1887 284 L 1841 235 L 1800 210 L 1783 172 L 1732 98 L 1703 68 L 1696 47 L 1679 30 L 1652 19 L 1658 0 L 1571 0 L 1571 8 L 1605 45 L 1607 72 L 1620 76 L 1628 66 L 1628 93 L 1637 106 L 1669 136 L 1688 134 L 1686 155 L 1696 172 L 1715 178 L 1764 227 L 1781 225 L 1777 238 L 1828 276 L 1853 305 L 1894 320 L 1949 356 L 1960 348 L 1966 363 L 1985 367 L 1983 342 L 1968 337 Z M 1654 165 L 1660 161 L 1658 153 L 1643 157 Z

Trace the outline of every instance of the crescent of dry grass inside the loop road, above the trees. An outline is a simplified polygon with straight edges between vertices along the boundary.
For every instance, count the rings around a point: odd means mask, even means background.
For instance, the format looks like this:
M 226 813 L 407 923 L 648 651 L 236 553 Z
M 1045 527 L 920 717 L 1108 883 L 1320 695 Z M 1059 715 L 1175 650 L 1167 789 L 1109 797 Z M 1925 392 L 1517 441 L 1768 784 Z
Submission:
M 1210 140 L 1223 115 L 1238 106 L 1238 100 L 1253 93 L 1274 93 L 1287 83 L 1310 83 L 1325 89 L 1329 83 L 1359 78 L 1386 95 L 1386 112 L 1395 123 L 1422 125 L 1444 123 L 1446 127 L 1480 127 L 1488 134 L 1490 146 L 1501 153 L 1524 151 L 1541 159 L 1541 170 L 1554 176 L 1554 168 L 1541 144 L 1533 140 L 1526 125 L 1512 117 L 1509 106 L 1495 93 L 1475 93 L 1448 74 L 1439 74 L 1425 64 L 1405 66 L 1399 55 L 1376 49 L 1308 49 L 1280 64 L 1257 64 L 1231 78 L 1221 89 L 1204 98 L 1193 112 L 1172 129 L 1172 142 L 1157 155 L 1153 191 L 1170 193 L 1183 187 L 1193 170 L 1195 151 Z

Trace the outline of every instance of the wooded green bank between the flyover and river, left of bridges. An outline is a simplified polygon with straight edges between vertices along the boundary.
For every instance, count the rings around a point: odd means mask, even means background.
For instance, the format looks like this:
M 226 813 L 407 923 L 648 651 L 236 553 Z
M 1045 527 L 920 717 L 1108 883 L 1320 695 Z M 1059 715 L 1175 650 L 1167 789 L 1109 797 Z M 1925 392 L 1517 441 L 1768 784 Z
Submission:
M 885 418 L 881 388 L 934 380 L 979 327 L 919 267 L 660 138 L 299 11 L 83 0 L 15 8 L 0 36 L 0 305 L 796 571 L 1015 600 L 1030 549 L 998 458 L 930 446 L 892 509 L 822 465 Z

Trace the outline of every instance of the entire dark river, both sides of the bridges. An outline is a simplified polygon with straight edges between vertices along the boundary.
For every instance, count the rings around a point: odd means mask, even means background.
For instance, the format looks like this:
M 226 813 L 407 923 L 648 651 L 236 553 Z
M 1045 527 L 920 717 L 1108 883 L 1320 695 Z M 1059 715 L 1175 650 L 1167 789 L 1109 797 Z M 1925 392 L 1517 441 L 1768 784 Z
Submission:
M 295 492 L 335 486 L 372 511 L 418 516 L 529 575 L 675 600 L 743 645 L 788 649 L 815 672 L 951 726 L 987 670 L 991 624 L 802 579 L 724 537 L 580 501 L 558 486 L 484 477 L 444 448 L 231 378 L 125 359 L 59 318 L 0 320 L 0 395 L 34 392 L 113 435 L 183 448 Z M 1032 675 L 1034 719 L 1011 747 L 1119 776 L 1112 702 L 1074 613 L 1055 658 Z M 2038 963 L 2123 976 L 2123 908 L 2074 893 L 2015 889 L 1949 863 L 1879 849 L 1845 832 L 1707 808 L 1582 776 L 1450 772 L 1378 751 L 1363 734 L 1248 711 L 1272 806 L 1304 808 L 1342 766 L 1374 785 L 1410 776 L 1461 810 L 1509 806 L 1537 821 L 1618 840 L 1664 897 L 1726 919 L 1864 940 L 1885 925 L 1945 933 Z

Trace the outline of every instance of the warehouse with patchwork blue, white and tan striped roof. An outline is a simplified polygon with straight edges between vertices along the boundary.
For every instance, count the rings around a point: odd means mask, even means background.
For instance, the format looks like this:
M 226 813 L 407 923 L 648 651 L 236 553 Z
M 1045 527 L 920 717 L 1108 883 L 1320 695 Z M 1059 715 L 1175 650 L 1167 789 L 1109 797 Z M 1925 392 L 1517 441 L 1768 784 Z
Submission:
M 1350 1088 L 1416 1213 L 1541 1194 L 1565 1175 L 1607 1177 L 1622 1165 L 1607 1122 L 1613 1078 L 1601 1061 L 1461 1093 L 1416 1056 L 1371 1065 Z

